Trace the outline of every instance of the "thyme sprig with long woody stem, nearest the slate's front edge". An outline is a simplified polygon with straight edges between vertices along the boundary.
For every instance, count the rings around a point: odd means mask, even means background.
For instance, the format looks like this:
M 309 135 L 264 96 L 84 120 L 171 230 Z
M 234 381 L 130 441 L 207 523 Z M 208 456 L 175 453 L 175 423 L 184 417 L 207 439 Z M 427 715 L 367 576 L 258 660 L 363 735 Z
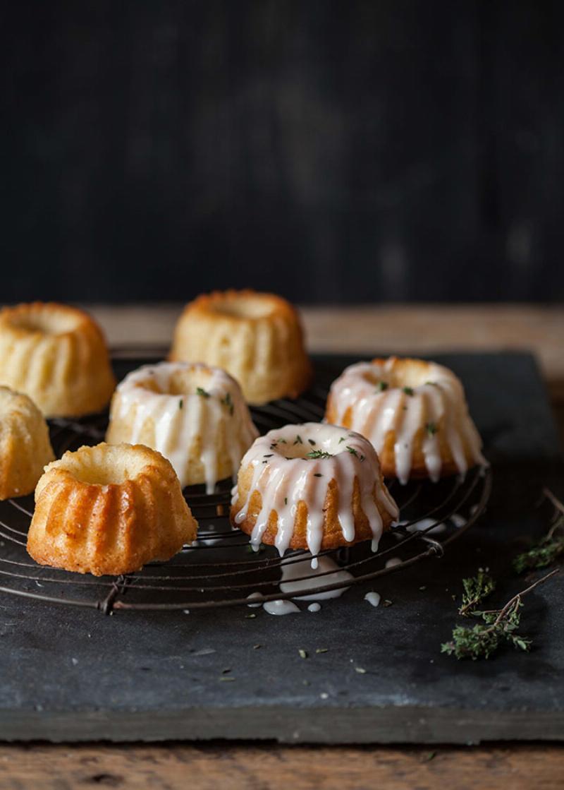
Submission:
M 556 573 L 558 568 L 537 579 L 521 592 L 517 592 L 517 595 L 510 598 L 501 609 L 472 611 L 472 615 L 481 617 L 485 623 L 476 623 L 472 628 L 456 626 L 452 632 L 452 639 L 441 645 L 441 653 L 454 655 L 458 659 L 489 658 L 491 653 L 495 653 L 506 642 L 513 645 L 515 649 L 528 651 L 532 643 L 531 639 L 517 633 L 517 628 L 521 624 L 520 609 L 523 606 L 521 599 Z

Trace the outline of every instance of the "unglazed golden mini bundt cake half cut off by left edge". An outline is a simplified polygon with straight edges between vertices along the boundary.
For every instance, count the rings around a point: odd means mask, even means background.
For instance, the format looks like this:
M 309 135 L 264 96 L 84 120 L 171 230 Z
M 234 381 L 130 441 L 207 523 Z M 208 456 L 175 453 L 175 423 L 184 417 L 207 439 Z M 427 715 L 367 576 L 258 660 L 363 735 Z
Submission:
M 31 494 L 53 459 L 39 408 L 27 395 L 0 386 L 0 499 Z

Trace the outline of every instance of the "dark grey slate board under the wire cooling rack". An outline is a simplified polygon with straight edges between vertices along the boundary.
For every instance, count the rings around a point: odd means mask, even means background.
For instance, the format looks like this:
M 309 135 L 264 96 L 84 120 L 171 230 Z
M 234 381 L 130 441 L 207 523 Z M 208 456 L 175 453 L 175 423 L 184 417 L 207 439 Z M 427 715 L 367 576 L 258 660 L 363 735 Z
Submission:
M 495 461 L 494 493 L 487 516 L 444 559 L 379 580 L 375 589 L 392 606 L 372 608 L 363 600 L 371 588 L 356 587 L 317 614 L 273 617 L 237 608 L 105 617 L 4 595 L 0 738 L 564 739 L 559 577 L 529 597 L 523 631 L 534 640 L 530 655 L 506 650 L 472 663 L 439 652 L 457 621 L 451 596 L 461 577 L 489 566 L 502 580 L 492 603 L 520 588 L 511 557 L 523 536 L 543 531 L 546 512 L 533 510 L 542 484 L 562 494 L 564 481 L 529 355 L 439 359 L 465 382 Z M 319 380 L 350 361 L 319 358 Z M 249 611 L 256 619 L 245 617 Z M 219 680 L 226 668 L 232 682 Z

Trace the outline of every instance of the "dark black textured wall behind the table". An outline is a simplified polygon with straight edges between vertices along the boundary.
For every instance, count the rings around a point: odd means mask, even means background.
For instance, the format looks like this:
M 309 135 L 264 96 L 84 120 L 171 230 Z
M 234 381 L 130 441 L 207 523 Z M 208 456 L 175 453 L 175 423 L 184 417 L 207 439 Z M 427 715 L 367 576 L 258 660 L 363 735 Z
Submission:
M 0 22 L 2 301 L 564 298 L 559 0 Z

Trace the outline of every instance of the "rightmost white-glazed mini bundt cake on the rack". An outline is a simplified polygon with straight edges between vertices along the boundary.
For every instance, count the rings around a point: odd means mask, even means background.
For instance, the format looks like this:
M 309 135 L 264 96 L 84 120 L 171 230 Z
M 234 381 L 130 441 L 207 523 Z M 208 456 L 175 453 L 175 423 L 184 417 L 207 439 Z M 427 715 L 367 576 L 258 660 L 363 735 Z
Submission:
M 422 359 L 373 359 L 347 367 L 331 385 L 328 423 L 372 442 L 387 477 L 464 473 L 485 463 L 459 379 Z

